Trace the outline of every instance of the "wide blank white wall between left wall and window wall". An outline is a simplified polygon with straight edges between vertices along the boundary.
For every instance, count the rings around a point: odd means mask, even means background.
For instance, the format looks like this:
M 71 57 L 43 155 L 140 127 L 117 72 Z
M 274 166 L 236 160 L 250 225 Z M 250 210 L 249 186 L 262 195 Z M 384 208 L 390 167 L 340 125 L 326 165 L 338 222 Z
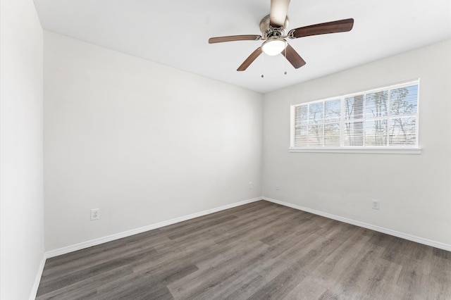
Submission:
M 52 32 L 44 77 L 47 250 L 261 196 L 261 94 Z

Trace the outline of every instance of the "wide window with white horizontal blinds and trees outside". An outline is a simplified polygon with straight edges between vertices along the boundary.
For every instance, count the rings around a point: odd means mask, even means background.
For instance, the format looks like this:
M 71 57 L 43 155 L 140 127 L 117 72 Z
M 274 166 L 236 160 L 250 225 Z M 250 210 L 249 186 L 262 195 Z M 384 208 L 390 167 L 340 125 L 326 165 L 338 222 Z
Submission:
M 419 81 L 291 107 L 290 151 L 420 153 Z

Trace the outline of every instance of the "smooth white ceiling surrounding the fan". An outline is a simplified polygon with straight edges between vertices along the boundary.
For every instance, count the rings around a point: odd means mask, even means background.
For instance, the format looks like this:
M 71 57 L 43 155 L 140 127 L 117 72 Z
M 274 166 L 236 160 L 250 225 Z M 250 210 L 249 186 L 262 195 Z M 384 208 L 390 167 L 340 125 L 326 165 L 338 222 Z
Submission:
M 288 30 L 345 18 L 354 18 L 354 28 L 289 39 L 307 62 L 297 70 L 281 55 L 265 55 L 237 72 L 261 42 L 208 44 L 208 39 L 260 35 L 270 0 L 35 0 L 35 5 L 46 30 L 261 93 L 451 38 L 450 0 L 292 0 Z

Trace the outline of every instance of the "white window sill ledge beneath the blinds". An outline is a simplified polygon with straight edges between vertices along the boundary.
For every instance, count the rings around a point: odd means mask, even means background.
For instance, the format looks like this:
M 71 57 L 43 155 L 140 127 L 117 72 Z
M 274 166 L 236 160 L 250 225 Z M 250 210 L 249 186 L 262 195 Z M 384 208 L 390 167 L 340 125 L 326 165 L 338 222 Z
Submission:
M 421 148 L 345 148 L 345 147 L 328 147 L 328 148 L 289 148 L 290 152 L 304 152 L 304 153 L 359 153 L 359 154 L 421 154 Z

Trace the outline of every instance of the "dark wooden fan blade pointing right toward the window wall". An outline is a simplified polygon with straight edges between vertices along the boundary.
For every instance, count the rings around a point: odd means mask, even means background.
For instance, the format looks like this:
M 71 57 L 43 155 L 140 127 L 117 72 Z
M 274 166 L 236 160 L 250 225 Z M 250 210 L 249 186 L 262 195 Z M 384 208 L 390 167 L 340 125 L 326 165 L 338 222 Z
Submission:
M 354 19 L 352 18 L 320 23 L 290 30 L 289 37 L 291 39 L 297 39 L 298 37 L 309 37 L 310 35 L 325 35 L 327 33 L 347 32 L 352 30 L 352 26 L 354 26 Z

